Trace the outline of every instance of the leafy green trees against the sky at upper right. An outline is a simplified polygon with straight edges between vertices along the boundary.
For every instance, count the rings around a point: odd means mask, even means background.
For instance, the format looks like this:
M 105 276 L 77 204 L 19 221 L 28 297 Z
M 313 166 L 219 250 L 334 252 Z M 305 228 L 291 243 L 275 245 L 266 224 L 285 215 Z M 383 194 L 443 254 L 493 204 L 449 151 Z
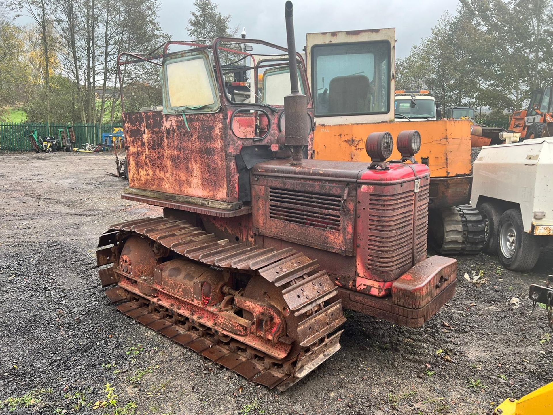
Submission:
M 446 106 L 519 109 L 553 82 L 552 35 L 551 0 L 460 0 L 398 60 L 398 86 L 429 89 Z

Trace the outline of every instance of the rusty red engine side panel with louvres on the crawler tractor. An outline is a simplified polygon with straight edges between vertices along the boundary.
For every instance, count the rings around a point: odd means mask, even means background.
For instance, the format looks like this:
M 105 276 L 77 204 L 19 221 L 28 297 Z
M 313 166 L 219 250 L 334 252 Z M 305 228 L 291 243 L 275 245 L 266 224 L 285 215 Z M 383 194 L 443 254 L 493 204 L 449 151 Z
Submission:
M 252 207 L 257 234 L 353 255 L 356 194 L 350 185 L 354 189 L 366 165 L 346 164 L 329 170 L 316 160 L 255 165 Z

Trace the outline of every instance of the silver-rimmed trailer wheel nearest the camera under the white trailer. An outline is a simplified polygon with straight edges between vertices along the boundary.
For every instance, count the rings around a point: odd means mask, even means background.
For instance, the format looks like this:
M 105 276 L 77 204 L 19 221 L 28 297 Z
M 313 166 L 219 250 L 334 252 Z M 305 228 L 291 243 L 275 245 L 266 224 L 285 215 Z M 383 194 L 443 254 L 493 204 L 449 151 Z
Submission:
M 497 256 L 505 268 L 529 271 L 538 262 L 539 243 L 534 235 L 524 232 L 518 209 L 509 209 L 501 215 L 496 240 Z

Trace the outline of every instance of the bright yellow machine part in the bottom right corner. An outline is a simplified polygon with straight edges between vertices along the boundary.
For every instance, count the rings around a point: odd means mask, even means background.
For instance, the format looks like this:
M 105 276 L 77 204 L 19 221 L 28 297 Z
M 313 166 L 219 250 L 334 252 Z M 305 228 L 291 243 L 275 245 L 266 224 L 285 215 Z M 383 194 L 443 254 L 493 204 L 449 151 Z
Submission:
M 553 414 L 553 382 L 530 392 L 518 401 L 509 398 L 500 404 L 495 415 L 547 415 Z

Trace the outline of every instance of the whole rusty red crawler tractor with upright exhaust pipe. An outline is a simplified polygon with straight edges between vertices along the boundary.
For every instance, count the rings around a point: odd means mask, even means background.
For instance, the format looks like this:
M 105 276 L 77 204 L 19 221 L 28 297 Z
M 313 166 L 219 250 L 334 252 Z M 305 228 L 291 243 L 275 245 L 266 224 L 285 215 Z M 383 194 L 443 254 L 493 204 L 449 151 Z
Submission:
M 122 197 L 163 206 L 164 216 L 112 225 L 98 246 L 113 246 L 97 252 L 121 312 L 280 390 L 340 349 L 342 305 L 420 326 L 457 282 L 455 260 L 426 258 L 428 168 L 385 162 L 389 133 L 367 139 L 370 167 L 304 158 L 312 100 L 291 2 L 285 15 L 288 49 L 218 38 L 169 53 L 169 42 L 119 63 L 161 65 L 163 110 L 124 112 Z M 254 46 L 281 56 L 259 63 Z M 284 105 L 259 98 L 258 76 L 274 68 L 292 91 Z M 231 84 L 243 82 L 237 71 L 254 81 Z M 419 139 L 398 138 L 406 158 Z

